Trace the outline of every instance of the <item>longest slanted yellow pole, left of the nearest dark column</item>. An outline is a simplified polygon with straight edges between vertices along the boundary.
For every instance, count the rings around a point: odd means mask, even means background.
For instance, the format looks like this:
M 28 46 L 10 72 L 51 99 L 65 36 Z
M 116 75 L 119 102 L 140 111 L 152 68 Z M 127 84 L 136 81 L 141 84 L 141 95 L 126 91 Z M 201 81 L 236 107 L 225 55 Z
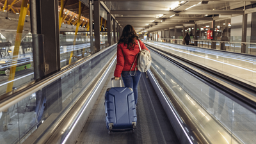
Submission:
M 15 39 L 15 45 L 13 49 L 13 56 L 12 56 L 12 61 L 14 63 L 13 66 L 10 68 L 10 75 L 8 78 L 8 81 L 12 81 L 15 77 L 15 70 L 17 66 L 17 59 L 19 56 L 19 48 L 20 48 L 20 40 L 22 38 L 22 31 L 24 27 L 24 22 L 26 18 L 26 12 L 27 12 L 27 3 L 28 0 L 23 0 L 20 8 L 20 17 L 19 17 L 19 22 L 18 22 L 18 27 L 17 27 L 17 34 L 16 34 L 16 39 Z M 13 82 L 8 83 L 6 93 L 11 92 L 13 87 Z

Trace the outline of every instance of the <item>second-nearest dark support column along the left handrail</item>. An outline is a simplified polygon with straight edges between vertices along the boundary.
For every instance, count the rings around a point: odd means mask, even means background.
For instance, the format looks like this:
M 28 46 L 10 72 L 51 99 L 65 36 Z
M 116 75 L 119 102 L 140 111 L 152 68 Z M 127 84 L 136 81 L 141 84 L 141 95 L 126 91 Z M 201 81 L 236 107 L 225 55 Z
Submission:
M 94 38 L 95 48 L 93 53 L 100 51 L 100 1 L 93 1 L 93 20 L 94 20 Z

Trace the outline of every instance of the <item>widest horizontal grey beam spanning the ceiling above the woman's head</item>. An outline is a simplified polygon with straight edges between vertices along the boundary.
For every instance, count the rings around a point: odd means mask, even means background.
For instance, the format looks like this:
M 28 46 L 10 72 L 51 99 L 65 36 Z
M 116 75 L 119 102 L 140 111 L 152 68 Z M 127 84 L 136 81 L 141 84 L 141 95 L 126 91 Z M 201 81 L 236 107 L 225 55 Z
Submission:
M 229 14 L 243 14 L 243 10 L 186 10 L 182 12 L 174 12 L 174 11 L 166 11 L 166 10 L 111 10 L 111 14 L 119 14 L 119 15 L 213 15 L 213 14 L 221 14 L 221 15 L 229 15 Z

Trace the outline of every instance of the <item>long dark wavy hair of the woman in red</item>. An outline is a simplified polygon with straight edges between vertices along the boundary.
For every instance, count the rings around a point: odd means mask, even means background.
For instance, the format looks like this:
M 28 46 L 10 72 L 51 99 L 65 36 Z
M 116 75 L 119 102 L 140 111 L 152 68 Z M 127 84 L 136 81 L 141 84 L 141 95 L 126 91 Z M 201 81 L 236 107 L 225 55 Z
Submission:
M 126 25 L 124 27 L 122 36 L 120 36 L 118 44 L 127 45 L 127 49 L 134 50 L 134 46 L 136 45 L 136 40 L 138 40 L 138 36 L 136 34 L 136 31 L 131 25 Z

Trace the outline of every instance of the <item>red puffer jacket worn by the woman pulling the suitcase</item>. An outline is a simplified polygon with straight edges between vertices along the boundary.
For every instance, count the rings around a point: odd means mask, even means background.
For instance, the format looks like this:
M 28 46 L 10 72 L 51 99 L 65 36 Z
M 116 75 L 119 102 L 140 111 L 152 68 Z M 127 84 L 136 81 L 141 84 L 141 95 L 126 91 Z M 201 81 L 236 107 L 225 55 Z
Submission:
M 140 42 L 141 49 L 147 49 L 147 47 L 143 44 L 143 42 L 141 42 L 141 40 L 139 40 L 139 42 Z M 127 49 L 127 45 L 124 45 L 124 44 L 117 45 L 117 53 L 116 53 L 117 63 L 116 63 L 116 69 L 114 73 L 115 77 L 121 77 L 122 71 L 130 71 L 132 67 L 132 63 L 136 58 L 136 55 L 140 52 L 140 47 L 138 45 L 137 40 L 136 40 L 136 45 L 134 46 L 133 51 L 132 50 L 130 51 L 129 49 Z M 132 67 L 132 71 L 135 70 L 135 67 L 137 65 L 137 60 L 138 58 L 136 59 Z

